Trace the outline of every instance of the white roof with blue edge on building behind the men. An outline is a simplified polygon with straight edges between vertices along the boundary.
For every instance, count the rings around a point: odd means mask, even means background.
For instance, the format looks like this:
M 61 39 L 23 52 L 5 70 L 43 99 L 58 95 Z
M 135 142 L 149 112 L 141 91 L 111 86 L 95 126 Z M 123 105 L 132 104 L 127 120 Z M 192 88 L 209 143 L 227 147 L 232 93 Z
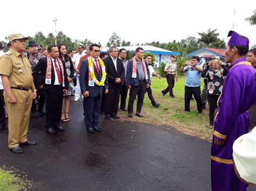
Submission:
M 144 52 L 151 52 L 152 54 L 164 54 L 164 55 L 180 55 L 179 52 L 172 52 L 172 51 L 168 51 L 167 49 L 163 49 L 163 48 L 158 48 L 158 47 L 154 47 L 151 45 L 143 45 L 143 46 L 120 46 L 117 47 L 118 49 L 120 48 L 125 48 L 128 51 L 135 51 L 136 48 L 138 47 L 142 47 L 144 49 Z M 108 48 L 102 48 L 102 51 L 107 51 Z

